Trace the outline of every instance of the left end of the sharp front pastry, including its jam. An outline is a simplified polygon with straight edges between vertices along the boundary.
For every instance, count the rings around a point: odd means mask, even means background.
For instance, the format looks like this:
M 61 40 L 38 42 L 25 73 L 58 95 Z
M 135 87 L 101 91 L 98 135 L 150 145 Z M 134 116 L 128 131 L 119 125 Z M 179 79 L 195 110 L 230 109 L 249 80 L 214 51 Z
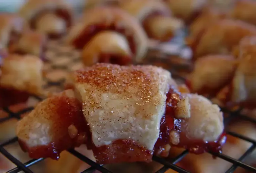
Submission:
M 81 109 L 72 90 L 42 101 L 17 124 L 21 148 L 32 158 L 59 158 L 61 151 L 84 143 L 87 125 Z

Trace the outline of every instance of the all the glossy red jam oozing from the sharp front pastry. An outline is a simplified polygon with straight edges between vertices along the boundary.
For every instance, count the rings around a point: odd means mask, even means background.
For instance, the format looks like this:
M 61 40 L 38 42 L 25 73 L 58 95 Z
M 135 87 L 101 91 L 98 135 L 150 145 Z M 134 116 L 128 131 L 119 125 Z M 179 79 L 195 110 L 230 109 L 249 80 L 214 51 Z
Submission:
M 28 151 L 29 156 L 32 158 L 50 157 L 58 159 L 60 152 L 74 146 L 86 143 L 88 149 L 92 149 L 97 163 L 109 164 L 109 163 L 120 163 L 120 162 L 150 162 L 152 161 L 153 152 L 161 150 L 161 148 L 170 144 L 169 133 L 171 130 L 182 134 L 182 119 L 174 118 L 174 112 L 180 99 L 182 98 L 181 93 L 176 89 L 170 88 L 167 93 L 166 99 L 166 113 L 161 120 L 159 138 L 155 144 L 154 151 L 149 151 L 145 147 L 138 145 L 132 140 L 116 140 L 110 145 L 104 145 L 96 147 L 92 142 L 91 132 L 87 124 L 83 112 L 81 111 L 82 105 L 76 100 L 71 104 L 67 99 L 60 101 L 61 106 L 57 106 L 57 115 L 54 122 L 55 128 L 58 129 L 55 135 L 55 142 L 48 146 L 32 147 L 28 148 L 22 141 L 20 145 L 24 151 Z M 56 101 L 58 102 L 58 101 Z M 77 108 L 78 107 L 78 108 Z M 73 124 L 78 129 L 78 135 L 76 138 L 70 138 L 67 129 Z M 60 137 L 62 134 L 62 137 Z M 78 138 L 82 138 L 79 140 Z M 87 134 L 87 136 L 85 135 Z M 226 141 L 226 136 L 223 133 L 217 141 L 204 142 L 200 140 L 182 139 L 179 145 L 173 145 L 177 147 L 183 147 L 188 149 L 190 152 L 195 154 L 201 154 L 203 152 L 212 151 L 220 152 L 221 146 Z M 77 142 L 78 141 L 78 142 Z

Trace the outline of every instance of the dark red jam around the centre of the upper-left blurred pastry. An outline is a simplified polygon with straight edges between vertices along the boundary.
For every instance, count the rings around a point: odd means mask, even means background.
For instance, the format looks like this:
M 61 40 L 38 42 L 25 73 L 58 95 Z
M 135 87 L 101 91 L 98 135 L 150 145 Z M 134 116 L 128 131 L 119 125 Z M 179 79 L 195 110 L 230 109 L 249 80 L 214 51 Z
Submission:
M 43 10 L 40 11 L 39 13 L 37 13 L 37 15 L 35 15 L 31 20 L 30 20 L 30 28 L 31 29 L 36 29 L 36 22 L 37 19 L 39 19 L 41 16 L 47 14 L 47 13 L 52 13 L 52 11 L 49 10 Z M 57 8 L 54 9 L 54 14 L 65 20 L 66 21 L 66 27 L 70 28 L 72 25 L 72 15 L 70 14 L 70 11 L 68 9 L 63 9 L 63 8 Z M 59 39 L 61 36 L 63 35 L 63 33 L 49 33 L 48 37 L 50 39 Z

